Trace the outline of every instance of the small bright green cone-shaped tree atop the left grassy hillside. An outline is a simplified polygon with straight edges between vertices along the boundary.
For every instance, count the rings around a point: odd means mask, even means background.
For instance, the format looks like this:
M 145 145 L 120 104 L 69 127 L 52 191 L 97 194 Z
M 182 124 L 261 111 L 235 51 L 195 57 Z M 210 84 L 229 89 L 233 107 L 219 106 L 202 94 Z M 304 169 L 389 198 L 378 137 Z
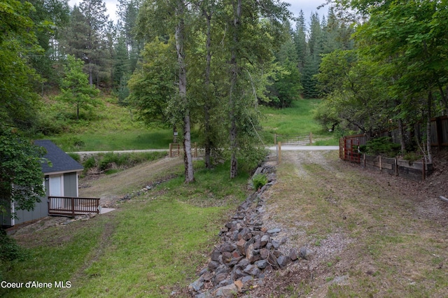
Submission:
M 76 108 L 76 119 L 79 119 L 81 108 L 90 109 L 101 104 L 101 101 L 96 99 L 99 90 L 89 85 L 88 76 L 83 73 L 83 65 L 82 60 L 71 55 L 67 56 L 61 94 L 56 97 Z

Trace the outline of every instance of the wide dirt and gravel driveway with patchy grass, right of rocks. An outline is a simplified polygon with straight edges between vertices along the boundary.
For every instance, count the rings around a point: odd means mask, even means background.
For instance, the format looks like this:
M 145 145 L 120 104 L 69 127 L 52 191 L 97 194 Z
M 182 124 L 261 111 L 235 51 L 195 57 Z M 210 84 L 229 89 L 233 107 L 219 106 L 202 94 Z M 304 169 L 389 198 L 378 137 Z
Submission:
M 281 227 L 285 250 L 313 255 L 246 297 L 448 296 L 448 204 L 438 199 L 448 192 L 446 171 L 416 183 L 342 162 L 337 152 L 285 152 L 282 160 L 265 225 Z

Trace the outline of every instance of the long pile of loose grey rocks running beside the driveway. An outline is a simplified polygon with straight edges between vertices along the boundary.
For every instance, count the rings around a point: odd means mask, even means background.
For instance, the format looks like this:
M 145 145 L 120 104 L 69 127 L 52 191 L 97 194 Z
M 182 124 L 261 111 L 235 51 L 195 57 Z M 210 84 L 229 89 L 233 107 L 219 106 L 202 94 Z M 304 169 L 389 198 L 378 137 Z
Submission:
M 215 247 L 207 267 L 188 287 L 195 297 L 235 297 L 237 292 L 261 284 L 267 270 L 281 269 L 311 253 L 306 248 L 290 248 L 288 254 L 281 253 L 279 247 L 287 239 L 274 239 L 281 229 L 263 226 L 265 201 L 261 194 L 276 182 L 274 170 L 273 166 L 263 165 L 255 172 L 254 176 L 265 174 L 268 183 L 247 197 L 232 221 L 221 229 L 223 243 Z

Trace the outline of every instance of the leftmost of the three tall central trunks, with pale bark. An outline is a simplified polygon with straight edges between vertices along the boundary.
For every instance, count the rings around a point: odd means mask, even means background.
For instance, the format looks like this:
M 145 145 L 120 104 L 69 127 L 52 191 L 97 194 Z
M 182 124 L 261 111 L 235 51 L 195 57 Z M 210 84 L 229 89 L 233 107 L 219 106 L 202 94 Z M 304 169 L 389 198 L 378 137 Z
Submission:
M 185 24 L 183 20 L 184 9 L 185 4 L 182 0 L 179 0 L 176 9 L 176 15 L 179 17 L 179 22 L 176 26 L 175 38 L 177 60 L 179 63 L 179 97 L 181 97 L 181 101 L 185 108 L 183 114 L 183 163 L 185 166 L 185 182 L 190 183 L 195 180 L 195 176 L 193 173 L 193 157 L 191 155 L 190 111 L 187 102 L 187 71 L 185 64 L 185 50 L 183 48 L 185 43 Z

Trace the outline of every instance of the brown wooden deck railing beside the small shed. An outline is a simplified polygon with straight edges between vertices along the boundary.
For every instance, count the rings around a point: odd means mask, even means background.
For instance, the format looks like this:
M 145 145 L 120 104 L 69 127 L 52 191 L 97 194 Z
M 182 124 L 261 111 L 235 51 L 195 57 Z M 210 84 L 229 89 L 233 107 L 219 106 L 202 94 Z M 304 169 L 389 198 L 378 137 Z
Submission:
M 49 215 L 99 213 L 98 198 L 48 197 Z

